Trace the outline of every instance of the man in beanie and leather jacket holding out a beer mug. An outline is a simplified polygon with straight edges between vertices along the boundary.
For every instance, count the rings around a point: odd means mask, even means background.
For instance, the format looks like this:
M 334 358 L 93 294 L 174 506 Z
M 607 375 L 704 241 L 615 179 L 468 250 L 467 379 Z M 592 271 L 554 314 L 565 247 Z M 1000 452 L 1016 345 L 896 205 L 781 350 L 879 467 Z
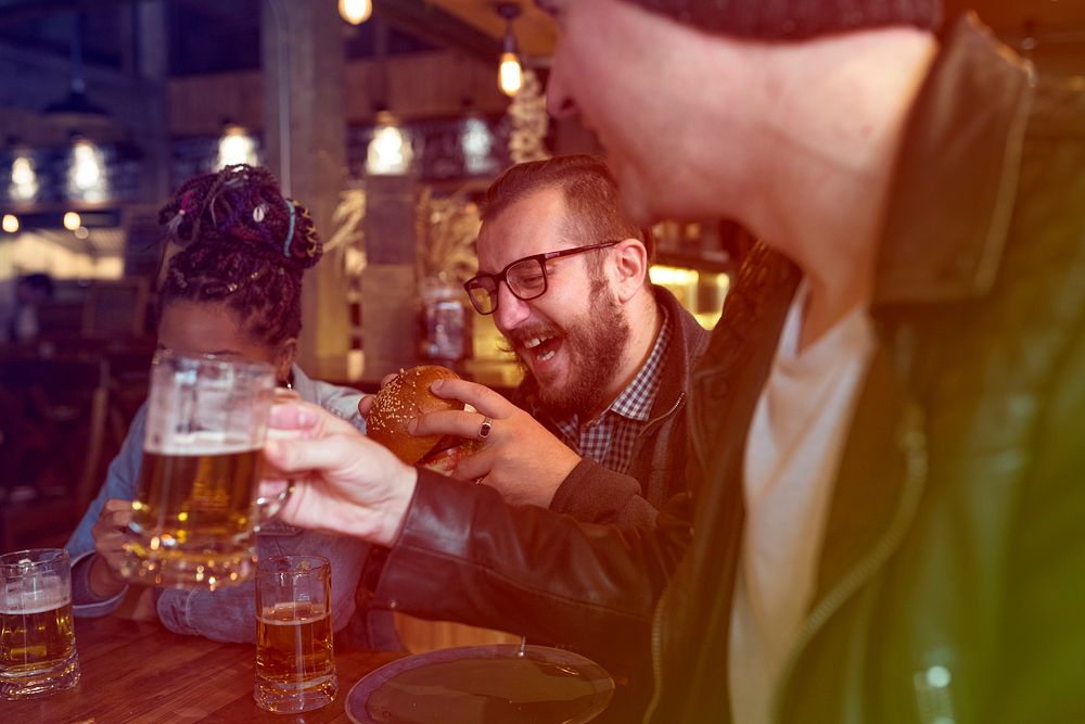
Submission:
M 546 7 L 549 107 L 634 220 L 765 240 L 694 370 L 691 545 L 669 505 L 650 533 L 509 508 L 301 407 L 286 517 L 392 546 L 384 576 L 439 586 L 411 605 L 650 650 L 647 721 L 1080 719 L 1080 85 L 972 15 L 936 37 L 935 0 Z

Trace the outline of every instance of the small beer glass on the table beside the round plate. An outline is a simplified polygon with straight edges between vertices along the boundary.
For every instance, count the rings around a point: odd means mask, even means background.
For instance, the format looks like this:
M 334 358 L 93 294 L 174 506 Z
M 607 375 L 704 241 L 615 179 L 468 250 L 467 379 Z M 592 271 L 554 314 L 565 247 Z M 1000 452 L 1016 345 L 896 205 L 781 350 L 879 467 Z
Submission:
M 332 571 L 321 556 L 280 556 L 256 568 L 256 686 L 261 709 L 297 713 L 335 698 Z

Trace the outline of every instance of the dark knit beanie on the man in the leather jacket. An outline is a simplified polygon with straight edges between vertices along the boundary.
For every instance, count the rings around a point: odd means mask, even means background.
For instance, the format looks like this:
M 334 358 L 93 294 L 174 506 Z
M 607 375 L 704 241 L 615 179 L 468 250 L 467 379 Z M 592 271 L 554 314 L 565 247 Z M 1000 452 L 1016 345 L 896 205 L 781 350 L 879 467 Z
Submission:
M 936 30 L 942 0 L 625 0 L 712 33 L 803 40 L 848 30 L 911 25 Z

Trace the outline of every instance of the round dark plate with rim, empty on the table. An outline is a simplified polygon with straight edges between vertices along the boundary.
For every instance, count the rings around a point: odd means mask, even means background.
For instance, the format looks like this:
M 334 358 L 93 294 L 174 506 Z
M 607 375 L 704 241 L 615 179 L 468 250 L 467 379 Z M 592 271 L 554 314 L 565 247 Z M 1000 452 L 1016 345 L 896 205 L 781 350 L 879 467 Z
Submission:
M 417 653 L 354 685 L 355 724 L 583 724 L 614 694 L 614 681 L 571 651 L 511 644 Z

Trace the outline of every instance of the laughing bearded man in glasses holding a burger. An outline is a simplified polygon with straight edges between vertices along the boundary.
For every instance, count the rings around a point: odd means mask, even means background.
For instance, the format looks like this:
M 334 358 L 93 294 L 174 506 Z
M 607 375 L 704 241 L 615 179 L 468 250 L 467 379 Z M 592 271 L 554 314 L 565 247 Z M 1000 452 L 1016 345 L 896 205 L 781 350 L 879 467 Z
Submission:
M 465 287 L 525 379 L 510 399 L 442 381 L 437 394 L 477 412 L 421 416 L 416 432 L 475 439 L 485 416 L 483 452 L 454 477 L 586 522 L 650 524 L 684 490 L 682 412 L 707 331 L 649 281 L 652 240 L 622 215 L 601 158 L 510 167 L 487 190 L 482 220 L 480 274 Z

